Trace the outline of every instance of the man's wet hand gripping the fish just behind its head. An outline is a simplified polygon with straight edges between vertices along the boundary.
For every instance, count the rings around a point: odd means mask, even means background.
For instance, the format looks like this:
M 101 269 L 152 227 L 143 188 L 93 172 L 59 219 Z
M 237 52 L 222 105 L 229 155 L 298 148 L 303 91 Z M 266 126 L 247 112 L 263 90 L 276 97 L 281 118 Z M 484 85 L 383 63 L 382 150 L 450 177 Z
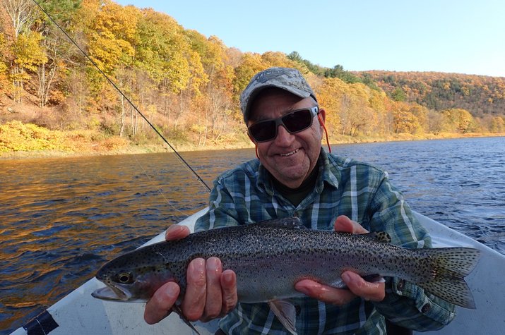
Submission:
M 165 239 L 179 240 L 188 235 L 188 227 L 173 225 L 167 229 Z M 223 272 L 219 258 L 192 260 L 186 272 L 186 282 L 182 314 L 189 321 L 206 322 L 222 317 L 237 305 L 237 276 L 232 270 Z M 179 285 L 173 281 L 158 288 L 145 305 L 145 322 L 155 324 L 167 317 L 180 291 Z

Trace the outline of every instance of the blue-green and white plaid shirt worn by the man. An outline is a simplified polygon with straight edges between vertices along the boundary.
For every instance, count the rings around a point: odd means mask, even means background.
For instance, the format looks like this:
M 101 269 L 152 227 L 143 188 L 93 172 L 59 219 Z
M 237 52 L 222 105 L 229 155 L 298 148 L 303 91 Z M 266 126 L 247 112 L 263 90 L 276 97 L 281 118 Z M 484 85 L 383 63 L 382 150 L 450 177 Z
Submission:
M 321 150 L 316 186 L 297 207 L 273 188 L 268 175 L 257 159 L 222 173 L 196 231 L 291 216 L 310 229 L 332 230 L 336 217 L 346 215 L 369 231 L 387 231 L 395 245 L 431 247 L 427 231 L 382 169 Z M 396 278 L 386 279 L 386 298 L 380 303 L 356 298 L 337 306 L 309 297 L 291 300 L 298 307 L 295 327 L 300 335 L 386 334 L 384 317 L 426 331 L 455 317 L 453 305 Z M 239 303 L 221 319 L 220 328 L 227 334 L 287 334 L 266 303 Z

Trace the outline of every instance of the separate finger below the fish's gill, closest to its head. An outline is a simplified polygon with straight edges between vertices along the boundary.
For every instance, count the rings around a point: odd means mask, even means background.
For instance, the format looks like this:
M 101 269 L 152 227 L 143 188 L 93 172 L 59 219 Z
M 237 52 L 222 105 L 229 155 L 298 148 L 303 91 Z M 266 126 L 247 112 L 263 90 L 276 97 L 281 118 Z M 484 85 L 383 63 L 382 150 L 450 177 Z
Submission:
M 144 319 L 148 324 L 155 324 L 167 317 L 179 296 L 179 285 L 170 281 L 154 293 L 148 303 L 145 305 Z

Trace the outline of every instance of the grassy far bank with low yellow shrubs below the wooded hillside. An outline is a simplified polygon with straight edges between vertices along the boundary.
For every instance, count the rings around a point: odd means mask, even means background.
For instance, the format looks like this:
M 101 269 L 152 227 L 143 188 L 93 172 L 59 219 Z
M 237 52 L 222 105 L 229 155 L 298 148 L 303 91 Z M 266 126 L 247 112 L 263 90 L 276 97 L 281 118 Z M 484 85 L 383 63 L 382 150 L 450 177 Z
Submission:
M 332 144 L 386 142 L 405 140 L 434 140 L 443 138 L 468 138 L 504 136 L 493 133 L 439 133 L 411 135 L 400 133 L 388 136 L 338 136 L 331 138 Z M 206 142 L 195 145 L 192 142 L 167 138 L 179 152 L 196 150 L 222 150 L 253 147 L 245 134 L 235 140 Z M 97 130 L 59 131 L 48 130 L 33 124 L 11 121 L 0 126 L 0 159 L 26 159 L 44 157 L 80 157 L 105 154 L 143 154 L 152 152 L 172 152 L 160 138 L 128 140 L 118 136 L 106 136 Z

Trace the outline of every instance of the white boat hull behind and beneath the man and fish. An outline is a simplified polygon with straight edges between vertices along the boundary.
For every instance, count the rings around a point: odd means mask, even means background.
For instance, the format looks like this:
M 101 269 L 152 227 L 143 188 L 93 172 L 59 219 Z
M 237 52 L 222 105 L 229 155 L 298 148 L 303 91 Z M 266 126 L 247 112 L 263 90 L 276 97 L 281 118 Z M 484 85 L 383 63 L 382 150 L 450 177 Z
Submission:
M 179 224 L 192 230 L 196 219 L 205 211 L 202 209 Z M 505 256 L 428 217 L 415 215 L 431 233 L 435 248 L 465 246 L 482 251 L 477 267 L 466 278 L 477 309 L 458 307 L 458 315 L 451 324 L 427 334 L 504 334 Z M 164 238 L 165 233 L 160 233 L 146 245 Z M 12 334 L 194 334 L 175 313 L 158 324 L 148 325 L 143 320 L 143 303 L 115 303 L 93 298 L 91 293 L 102 286 L 97 279 L 90 279 Z M 214 334 L 218 322 L 194 322 L 194 326 L 202 335 Z

